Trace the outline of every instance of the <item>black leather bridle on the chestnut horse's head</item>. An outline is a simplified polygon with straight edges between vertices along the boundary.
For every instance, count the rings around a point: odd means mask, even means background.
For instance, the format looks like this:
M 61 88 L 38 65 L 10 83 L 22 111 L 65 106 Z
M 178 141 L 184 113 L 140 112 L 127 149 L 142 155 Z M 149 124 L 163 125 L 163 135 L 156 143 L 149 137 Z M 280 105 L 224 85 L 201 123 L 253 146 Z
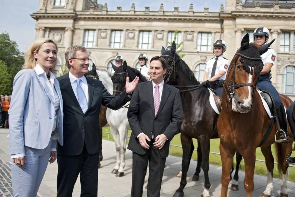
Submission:
M 251 58 L 251 57 L 248 57 L 248 56 L 243 55 L 243 54 L 238 53 L 238 52 L 235 55 L 238 55 L 240 57 L 243 57 L 245 59 L 252 60 L 252 61 L 259 61 L 259 60 L 261 60 L 261 57 L 260 58 Z M 238 60 L 238 58 L 237 58 L 237 60 Z M 250 65 L 248 65 L 248 66 L 250 66 Z M 250 67 L 254 67 L 254 66 L 250 66 Z M 231 81 L 229 82 L 229 85 L 227 85 L 227 83 L 224 83 L 224 85 L 223 85 L 224 88 L 225 88 L 225 91 L 227 92 L 226 95 L 228 97 L 228 102 L 231 102 L 231 99 L 234 98 L 234 90 L 237 89 L 237 88 L 244 87 L 244 86 L 250 86 L 250 87 L 252 87 L 253 88 L 253 90 L 252 90 L 252 96 L 253 96 L 253 92 L 256 90 L 256 85 L 254 85 L 252 83 L 235 84 L 235 82 L 234 82 L 235 67 L 236 67 L 236 60 L 233 62 L 233 66 L 231 67 L 231 68 L 233 68 L 233 72 L 231 73 Z

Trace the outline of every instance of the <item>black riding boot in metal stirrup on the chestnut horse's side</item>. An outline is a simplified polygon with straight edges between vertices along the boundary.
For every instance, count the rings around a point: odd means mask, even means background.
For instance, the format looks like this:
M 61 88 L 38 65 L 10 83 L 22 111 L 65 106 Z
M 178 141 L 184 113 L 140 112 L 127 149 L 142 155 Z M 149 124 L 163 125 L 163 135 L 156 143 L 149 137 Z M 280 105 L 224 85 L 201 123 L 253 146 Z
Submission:
M 276 110 L 276 118 L 277 118 L 277 124 L 279 124 L 279 129 L 276 133 L 276 142 L 277 143 L 288 143 L 289 141 L 289 135 L 288 135 L 288 129 L 287 129 L 287 118 L 286 118 L 286 112 L 283 103 L 281 103 Z

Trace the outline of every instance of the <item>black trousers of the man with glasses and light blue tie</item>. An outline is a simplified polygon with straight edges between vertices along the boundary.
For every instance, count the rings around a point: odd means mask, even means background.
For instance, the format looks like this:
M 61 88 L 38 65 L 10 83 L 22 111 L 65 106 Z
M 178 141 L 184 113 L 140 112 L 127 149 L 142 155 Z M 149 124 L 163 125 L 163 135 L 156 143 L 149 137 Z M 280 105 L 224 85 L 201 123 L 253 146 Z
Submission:
M 98 157 L 98 153 L 90 155 L 85 144 L 80 155 L 57 155 L 57 196 L 72 196 L 79 173 L 80 196 L 97 196 Z

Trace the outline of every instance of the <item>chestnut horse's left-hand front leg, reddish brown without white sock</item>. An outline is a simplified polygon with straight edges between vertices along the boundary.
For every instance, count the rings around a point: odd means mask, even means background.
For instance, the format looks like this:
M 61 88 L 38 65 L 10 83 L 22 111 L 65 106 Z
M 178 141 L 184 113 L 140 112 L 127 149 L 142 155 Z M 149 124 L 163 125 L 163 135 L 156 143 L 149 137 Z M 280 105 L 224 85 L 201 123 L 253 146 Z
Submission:
M 228 184 L 230 181 L 230 172 L 233 164 L 234 150 L 225 150 L 222 143 L 219 144 L 219 150 L 222 162 L 222 174 L 221 174 L 221 197 L 228 196 Z

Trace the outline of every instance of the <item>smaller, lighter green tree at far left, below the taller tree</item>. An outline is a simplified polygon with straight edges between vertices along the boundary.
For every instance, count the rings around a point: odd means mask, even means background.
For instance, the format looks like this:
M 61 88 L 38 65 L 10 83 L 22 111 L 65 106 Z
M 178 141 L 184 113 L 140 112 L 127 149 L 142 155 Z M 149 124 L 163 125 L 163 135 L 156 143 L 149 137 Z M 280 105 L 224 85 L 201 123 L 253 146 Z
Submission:
M 7 66 L 0 60 L 0 94 L 10 95 L 12 92 L 11 74 L 8 73 Z

